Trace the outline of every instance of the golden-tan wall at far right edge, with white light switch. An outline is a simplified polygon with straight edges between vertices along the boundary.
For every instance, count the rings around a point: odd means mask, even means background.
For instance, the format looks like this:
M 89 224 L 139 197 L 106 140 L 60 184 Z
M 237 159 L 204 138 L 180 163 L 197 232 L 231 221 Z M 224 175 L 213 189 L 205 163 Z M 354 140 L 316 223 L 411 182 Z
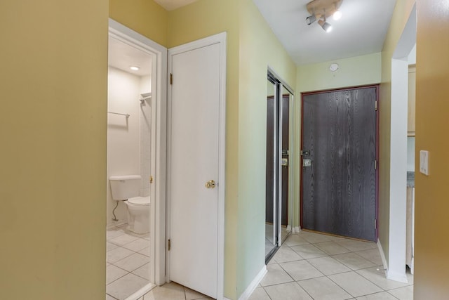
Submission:
M 429 150 L 429 176 L 416 171 L 415 299 L 448 299 L 449 6 L 417 1 L 416 153 Z M 419 160 L 415 166 L 419 167 Z

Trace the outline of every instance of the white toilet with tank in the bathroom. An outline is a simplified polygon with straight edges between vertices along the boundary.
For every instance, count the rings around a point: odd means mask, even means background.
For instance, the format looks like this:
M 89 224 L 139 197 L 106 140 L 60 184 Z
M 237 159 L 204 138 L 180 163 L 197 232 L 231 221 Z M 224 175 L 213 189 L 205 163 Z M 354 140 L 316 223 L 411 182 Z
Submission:
M 149 196 L 140 197 L 140 175 L 111 176 L 112 199 L 124 201 L 128 208 L 128 230 L 149 233 Z

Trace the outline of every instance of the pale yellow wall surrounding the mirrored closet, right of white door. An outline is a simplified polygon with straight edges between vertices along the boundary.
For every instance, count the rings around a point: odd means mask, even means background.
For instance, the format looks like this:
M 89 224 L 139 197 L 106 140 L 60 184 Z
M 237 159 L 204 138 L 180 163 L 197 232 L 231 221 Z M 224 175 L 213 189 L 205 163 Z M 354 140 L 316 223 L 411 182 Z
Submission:
M 267 67 L 294 86 L 296 66 L 251 0 L 239 1 L 237 296 L 264 266 Z M 236 143 L 234 138 L 233 143 Z

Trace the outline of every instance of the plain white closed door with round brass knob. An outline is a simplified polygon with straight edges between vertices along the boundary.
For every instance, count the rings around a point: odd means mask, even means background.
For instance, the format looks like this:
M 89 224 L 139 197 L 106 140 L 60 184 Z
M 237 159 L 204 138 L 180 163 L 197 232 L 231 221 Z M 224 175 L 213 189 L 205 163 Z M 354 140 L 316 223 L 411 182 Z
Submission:
M 169 55 L 169 278 L 217 298 L 220 44 Z M 215 182 L 215 188 L 206 183 Z M 222 244 L 220 242 L 220 244 Z

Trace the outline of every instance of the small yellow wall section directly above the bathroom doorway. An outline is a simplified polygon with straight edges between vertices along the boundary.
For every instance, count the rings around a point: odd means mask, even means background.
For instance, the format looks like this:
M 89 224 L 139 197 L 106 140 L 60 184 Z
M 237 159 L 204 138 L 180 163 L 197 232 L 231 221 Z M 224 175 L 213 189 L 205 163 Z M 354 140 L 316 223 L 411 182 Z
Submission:
M 109 0 L 109 18 L 167 46 L 168 12 L 152 0 Z

